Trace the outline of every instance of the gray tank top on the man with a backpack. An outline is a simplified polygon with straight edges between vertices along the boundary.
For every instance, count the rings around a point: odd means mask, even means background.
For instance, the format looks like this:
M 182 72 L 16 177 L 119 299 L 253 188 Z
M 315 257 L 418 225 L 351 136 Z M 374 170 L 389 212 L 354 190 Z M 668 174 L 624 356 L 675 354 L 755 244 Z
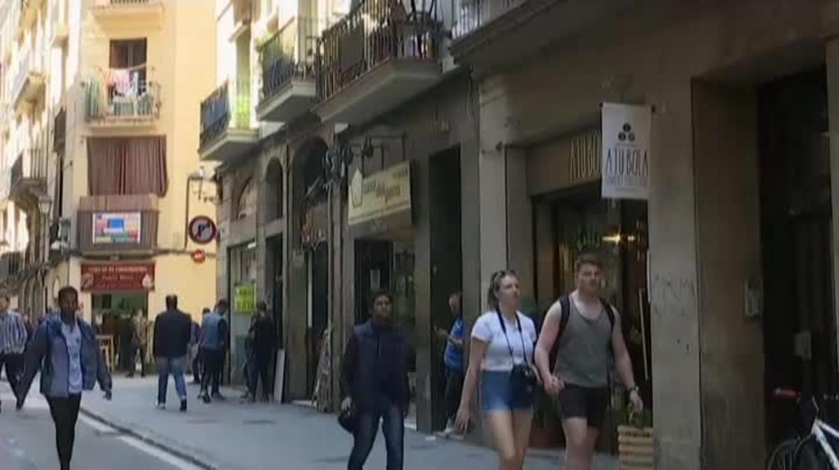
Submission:
M 555 374 L 565 383 L 590 388 L 605 388 L 609 380 L 609 343 L 612 323 L 605 309 L 597 320 L 582 316 L 569 298 L 571 312 L 565 331 L 559 339 Z

